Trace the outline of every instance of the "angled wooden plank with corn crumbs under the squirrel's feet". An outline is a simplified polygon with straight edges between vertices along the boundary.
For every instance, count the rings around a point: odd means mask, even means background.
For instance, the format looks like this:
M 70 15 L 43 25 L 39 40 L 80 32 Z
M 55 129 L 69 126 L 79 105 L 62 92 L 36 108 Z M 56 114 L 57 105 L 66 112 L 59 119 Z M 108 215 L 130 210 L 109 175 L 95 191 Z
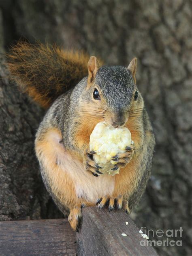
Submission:
M 145 238 L 139 234 L 139 228 L 122 210 L 83 209 L 82 227 L 77 233 L 78 255 L 158 255 L 154 248 L 141 246 L 141 240 Z

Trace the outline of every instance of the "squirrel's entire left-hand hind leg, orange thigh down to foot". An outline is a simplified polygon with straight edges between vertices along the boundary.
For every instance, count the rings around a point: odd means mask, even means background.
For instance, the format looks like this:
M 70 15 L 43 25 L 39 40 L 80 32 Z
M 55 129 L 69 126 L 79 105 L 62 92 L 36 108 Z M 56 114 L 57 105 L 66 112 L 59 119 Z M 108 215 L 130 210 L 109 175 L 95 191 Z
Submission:
M 77 170 L 81 170 L 83 165 L 78 162 L 75 155 L 65 150 L 61 141 L 62 134 L 56 128 L 48 128 L 43 134 L 37 134 L 36 155 L 47 190 L 65 215 L 70 212 L 68 220 L 71 227 L 76 230 L 81 219 L 81 208 L 95 206 L 95 203 L 84 202 L 77 196 L 78 183 L 75 184 L 75 181 L 77 182 L 78 176 L 73 175 Z

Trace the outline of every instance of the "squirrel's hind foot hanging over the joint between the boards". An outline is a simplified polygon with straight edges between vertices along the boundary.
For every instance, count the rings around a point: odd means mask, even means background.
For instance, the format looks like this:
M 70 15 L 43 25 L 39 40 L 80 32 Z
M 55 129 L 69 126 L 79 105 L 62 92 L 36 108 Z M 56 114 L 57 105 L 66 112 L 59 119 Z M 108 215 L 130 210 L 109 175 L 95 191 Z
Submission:
M 95 206 L 95 203 L 85 201 L 83 203 L 77 203 L 72 209 L 70 209 L 68 221 L 71 225 L 71 228 L 73 228 L 73 230 L 79 231 L 79 225 L 81 223 L 81 218 L 82 218 L 81 209 L 88 206 Z

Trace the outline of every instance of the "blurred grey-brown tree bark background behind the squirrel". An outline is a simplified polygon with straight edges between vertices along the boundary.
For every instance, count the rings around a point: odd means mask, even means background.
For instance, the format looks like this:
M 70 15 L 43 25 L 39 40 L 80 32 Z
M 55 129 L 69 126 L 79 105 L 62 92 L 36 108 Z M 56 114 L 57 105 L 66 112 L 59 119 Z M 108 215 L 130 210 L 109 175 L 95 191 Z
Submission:
M 107 65 L 138 58 L 137 85 L 156 135 L 152 176 L 132 213 L 138 227 L 183 228 L 191 255 L 192 2 L 190 0 L 0 0 L 0 52 L 22 37 L 83 49 Z M 62 218 L 46 192 L 34 154 L 45 114 L 6 78 L 0 63 L 0 221 Z M 150 237 L 166 240 L 166 236 Z

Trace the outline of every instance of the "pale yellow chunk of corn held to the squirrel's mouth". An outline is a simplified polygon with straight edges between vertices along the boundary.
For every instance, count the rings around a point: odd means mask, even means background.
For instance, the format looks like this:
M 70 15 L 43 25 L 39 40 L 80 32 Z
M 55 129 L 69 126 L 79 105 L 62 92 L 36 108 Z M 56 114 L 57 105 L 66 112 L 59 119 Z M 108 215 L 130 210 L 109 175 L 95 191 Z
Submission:
M 111 157 L 117 153 L 126 152 L 125 148 L 131 144 L 131 133 L 128 128 L 114 128 L 107 126 L 105 122 L 96 125 L 90 136 L 90 151 L 95 151 L 94 160 L 102 167 L 103 174 L 115 175 L 119 173 L 119 168 L 112 171 L 114 164 Z

